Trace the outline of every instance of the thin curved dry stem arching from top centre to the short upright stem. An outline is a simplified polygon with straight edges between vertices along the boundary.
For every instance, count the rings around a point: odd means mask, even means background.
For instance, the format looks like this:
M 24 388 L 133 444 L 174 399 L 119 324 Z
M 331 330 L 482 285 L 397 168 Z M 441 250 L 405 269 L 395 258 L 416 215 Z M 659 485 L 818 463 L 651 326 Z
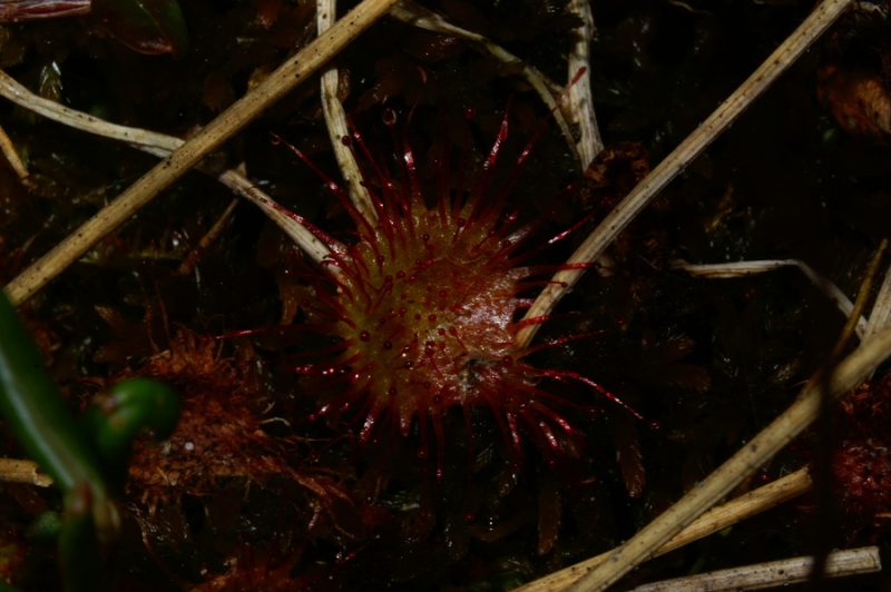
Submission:
M 440 14 L 418 6 L 411 0 L 405 0 L 400 3 L 392 10 L 390 14 L 395 19 L 420 29 L 427 29 L 428 31 L 433 31 L 437 33 L 459 37 L 464 41 L 468 41 L 470 46 L 480 53 L 486 53 L 505 63 L 506 66 L 517 68 L 519 73 L 526 78 L 526 81 L 529 82 L 548 109 L 550 109 L 550 111 L 554 114 L 554 118 L 557 120 L 560 131 L 566 138 L 569 148 L 575 152 L 581 168 L 585 168 L 588 165 L 588 162 L 584 161 L 581 155 L 578 152 L 576 138 L 572 135 L 569 122 L 566 120 L 560 106 L 555 99 L 555 96 L 558 96 L 562 92 L 562 88 L 559 85 L 552 82 L 537 68 L 526 63 L 522 59 L 515 56 L 498 43 L 492 42 L 480 33 L 468 31 L 467 29 L 462 29 L 461 27 L 452 24 Z M 581 82 L 579 81 L 579 83 Z

